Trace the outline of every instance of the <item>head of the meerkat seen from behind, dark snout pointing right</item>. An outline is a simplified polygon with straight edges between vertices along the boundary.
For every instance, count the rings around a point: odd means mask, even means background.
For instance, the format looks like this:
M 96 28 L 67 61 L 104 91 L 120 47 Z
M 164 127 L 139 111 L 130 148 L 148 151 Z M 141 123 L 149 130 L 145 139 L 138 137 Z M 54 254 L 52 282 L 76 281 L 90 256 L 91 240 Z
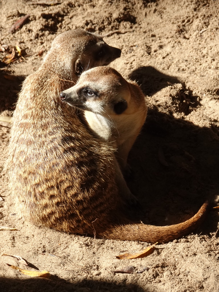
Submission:
M 61 54 L 58 54 L 59 51 Z M 58 35 L 52 42 L 50 52 L 52 54 L 48 54 L 46 58 L 56 59 L 56 62 L 51 63 L 59 63 L 61 72 L 66 70 L 76 77 L 90 68 L 108 65 L 121 55 L 119 48 L 107 45 L 102 37 L 82 29 Z

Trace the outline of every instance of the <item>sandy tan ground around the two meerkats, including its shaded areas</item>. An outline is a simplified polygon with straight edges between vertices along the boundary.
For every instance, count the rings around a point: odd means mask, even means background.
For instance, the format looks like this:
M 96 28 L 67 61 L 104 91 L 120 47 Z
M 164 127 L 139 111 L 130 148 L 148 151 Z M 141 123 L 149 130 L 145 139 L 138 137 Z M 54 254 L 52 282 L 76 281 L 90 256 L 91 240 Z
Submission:
M 104 38 L 122 49 L 112 67 L 138 81 L 149 106 L 145 126 L 130 152 L 133 176 L 127 182 L 142 204 L 142 220 L 170 225 L 190 218 L 205 199 L 217 206 L 218 11 L 218 0 L 1 0 L 1 46 L 18 44 L 26 53 L 7 66 L 1 63 L 0 114 L 13 112 L 22 81 L 38 69 L 56 34 L 77 27 L 103 36 L 119 31 Z M 9 32 L 27 13 L 29 20 Z M 1 61 L 7 54 L 0 52 Z M 9 137 L 10 130 L 0 127 L 0 225 L 17 231 L 0 231 L 1 254 L 22 256 L 31 265 L 0 256 L 0 291 L 219 290 L 215 209 L 193 234 L 158 245 L 146 258 L 118 260 L 116 255 L 149 244 L 65 234 L 17 217 L 2 171 Z M 48 270 L 53 276 L 30 278 L 6 263 Z M 135 272 L 112 272 L 126 266 L 134 266 Z

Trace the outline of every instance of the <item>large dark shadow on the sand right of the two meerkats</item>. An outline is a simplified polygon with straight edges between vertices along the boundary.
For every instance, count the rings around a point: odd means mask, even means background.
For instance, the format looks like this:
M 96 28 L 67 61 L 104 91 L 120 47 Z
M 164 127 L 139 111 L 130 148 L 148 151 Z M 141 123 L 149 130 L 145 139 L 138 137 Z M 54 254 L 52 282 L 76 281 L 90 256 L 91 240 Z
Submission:
M 145 94 L 154 94 L 151 99 L 170 83 L 179 83 L 153 67 L 140 67 L 130 77 Z M 171 225 L 189 219 L 204 201 L 217 197 L 219 131 L 177 119 L 153 101 L 150 104 L 145 125 L 129 153 L 133 176 L 127 184 L 142 206 L 138 219 Z M 206 232 L 217 230 L 217 224 L 218 212 L 211 211 L 204 223 Z

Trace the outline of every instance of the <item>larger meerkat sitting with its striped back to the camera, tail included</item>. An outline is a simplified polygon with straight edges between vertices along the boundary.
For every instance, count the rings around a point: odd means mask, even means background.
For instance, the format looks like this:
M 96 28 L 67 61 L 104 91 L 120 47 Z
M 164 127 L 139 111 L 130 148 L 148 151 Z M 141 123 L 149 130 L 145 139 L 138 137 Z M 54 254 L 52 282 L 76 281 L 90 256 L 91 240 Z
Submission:
M 55 38 L 41 67 L 23 83 L 6 166 L 15 206 L 36 225 L 108 239 L 166 242 L 192 231 L 207 203 L 189 220 L 171 226 L 127 218 L 123 198 L 128 187 L 117 184 L 112 146 L 95 138 L 60 100 L 60 92 L 72 85 L 63 80 L 75 80 L 74 60 L 83 45 L 78 39 L 74 31 Z

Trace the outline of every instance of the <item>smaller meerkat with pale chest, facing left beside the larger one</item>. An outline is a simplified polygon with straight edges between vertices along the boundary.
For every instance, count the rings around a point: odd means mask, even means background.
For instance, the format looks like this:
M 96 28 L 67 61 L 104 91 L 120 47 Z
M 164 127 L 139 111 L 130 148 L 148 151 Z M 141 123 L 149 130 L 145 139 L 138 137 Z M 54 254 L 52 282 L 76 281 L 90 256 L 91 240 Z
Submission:
M 121 169 L 126 171 L 128 153 L 147 115 L 138 84 L 125 80 L 115 69 L 96 67 L 83 72 L 60 98 L 83 110 L 89 127 L 97 137 L 111 142 Z

